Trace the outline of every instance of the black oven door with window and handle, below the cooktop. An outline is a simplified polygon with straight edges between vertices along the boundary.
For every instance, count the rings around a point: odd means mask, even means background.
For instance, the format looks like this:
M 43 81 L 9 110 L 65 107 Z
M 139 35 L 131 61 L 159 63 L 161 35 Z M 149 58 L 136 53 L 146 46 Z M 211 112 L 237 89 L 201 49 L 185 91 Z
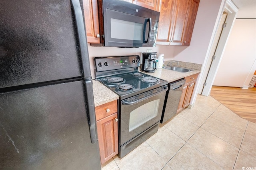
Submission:
M 120 145 L 160 121 L 167 86 L 121 101 Z

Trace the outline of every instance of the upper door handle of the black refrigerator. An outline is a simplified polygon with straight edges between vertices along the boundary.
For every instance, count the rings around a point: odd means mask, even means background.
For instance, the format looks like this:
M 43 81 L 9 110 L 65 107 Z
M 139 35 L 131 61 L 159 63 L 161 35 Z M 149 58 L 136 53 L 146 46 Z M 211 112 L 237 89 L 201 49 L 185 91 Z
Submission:
M 71 0 L 71 6 L 75 14 L 75 21 L 76 21 L 78 40 L 79 40 L 82 65 L 83 65 L 83 72 L 84 72 L 83 77 L 89 78 L 91 77 L 91 74 L 90 74 L 91 70 L 90 70 L 89 53 L 87 48 L 87 39 L 85 34 L 86 29 L 85 29 L 84 17 L 83 17 L 79 0 Z

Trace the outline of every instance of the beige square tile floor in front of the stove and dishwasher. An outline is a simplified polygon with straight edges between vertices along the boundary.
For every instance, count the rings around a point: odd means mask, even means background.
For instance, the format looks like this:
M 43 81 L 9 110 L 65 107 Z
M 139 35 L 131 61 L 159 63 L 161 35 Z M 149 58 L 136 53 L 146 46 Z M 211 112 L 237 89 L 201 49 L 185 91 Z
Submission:
M 256 124 L 211 96 L 198 95 L 184 109 L 124 158 L 102 170 L 242 170 L 256 167 Z M 247 169 L 248 169 L 247 168 Z M 253 169 L 252 168 L 252 169 Z

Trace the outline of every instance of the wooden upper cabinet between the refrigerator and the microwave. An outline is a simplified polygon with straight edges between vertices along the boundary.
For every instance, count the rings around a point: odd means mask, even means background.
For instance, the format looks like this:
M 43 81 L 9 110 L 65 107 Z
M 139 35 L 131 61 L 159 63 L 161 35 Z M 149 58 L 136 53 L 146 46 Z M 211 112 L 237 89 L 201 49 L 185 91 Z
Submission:
M 88 43 L 100 43 L 98 1 L 83 0 L 84 20 Z

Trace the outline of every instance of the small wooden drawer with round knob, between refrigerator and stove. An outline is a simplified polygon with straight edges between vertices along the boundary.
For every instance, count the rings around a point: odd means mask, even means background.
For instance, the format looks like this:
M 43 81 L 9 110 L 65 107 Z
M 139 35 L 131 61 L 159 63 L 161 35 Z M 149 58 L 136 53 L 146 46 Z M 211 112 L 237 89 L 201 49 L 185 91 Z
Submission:
M 109 110 L 108 110 L 109 109 Z M 107 112 L 109 111 L 109 112 Z M 117 100 L 95 107 L 96 121 L 117 112 Z

